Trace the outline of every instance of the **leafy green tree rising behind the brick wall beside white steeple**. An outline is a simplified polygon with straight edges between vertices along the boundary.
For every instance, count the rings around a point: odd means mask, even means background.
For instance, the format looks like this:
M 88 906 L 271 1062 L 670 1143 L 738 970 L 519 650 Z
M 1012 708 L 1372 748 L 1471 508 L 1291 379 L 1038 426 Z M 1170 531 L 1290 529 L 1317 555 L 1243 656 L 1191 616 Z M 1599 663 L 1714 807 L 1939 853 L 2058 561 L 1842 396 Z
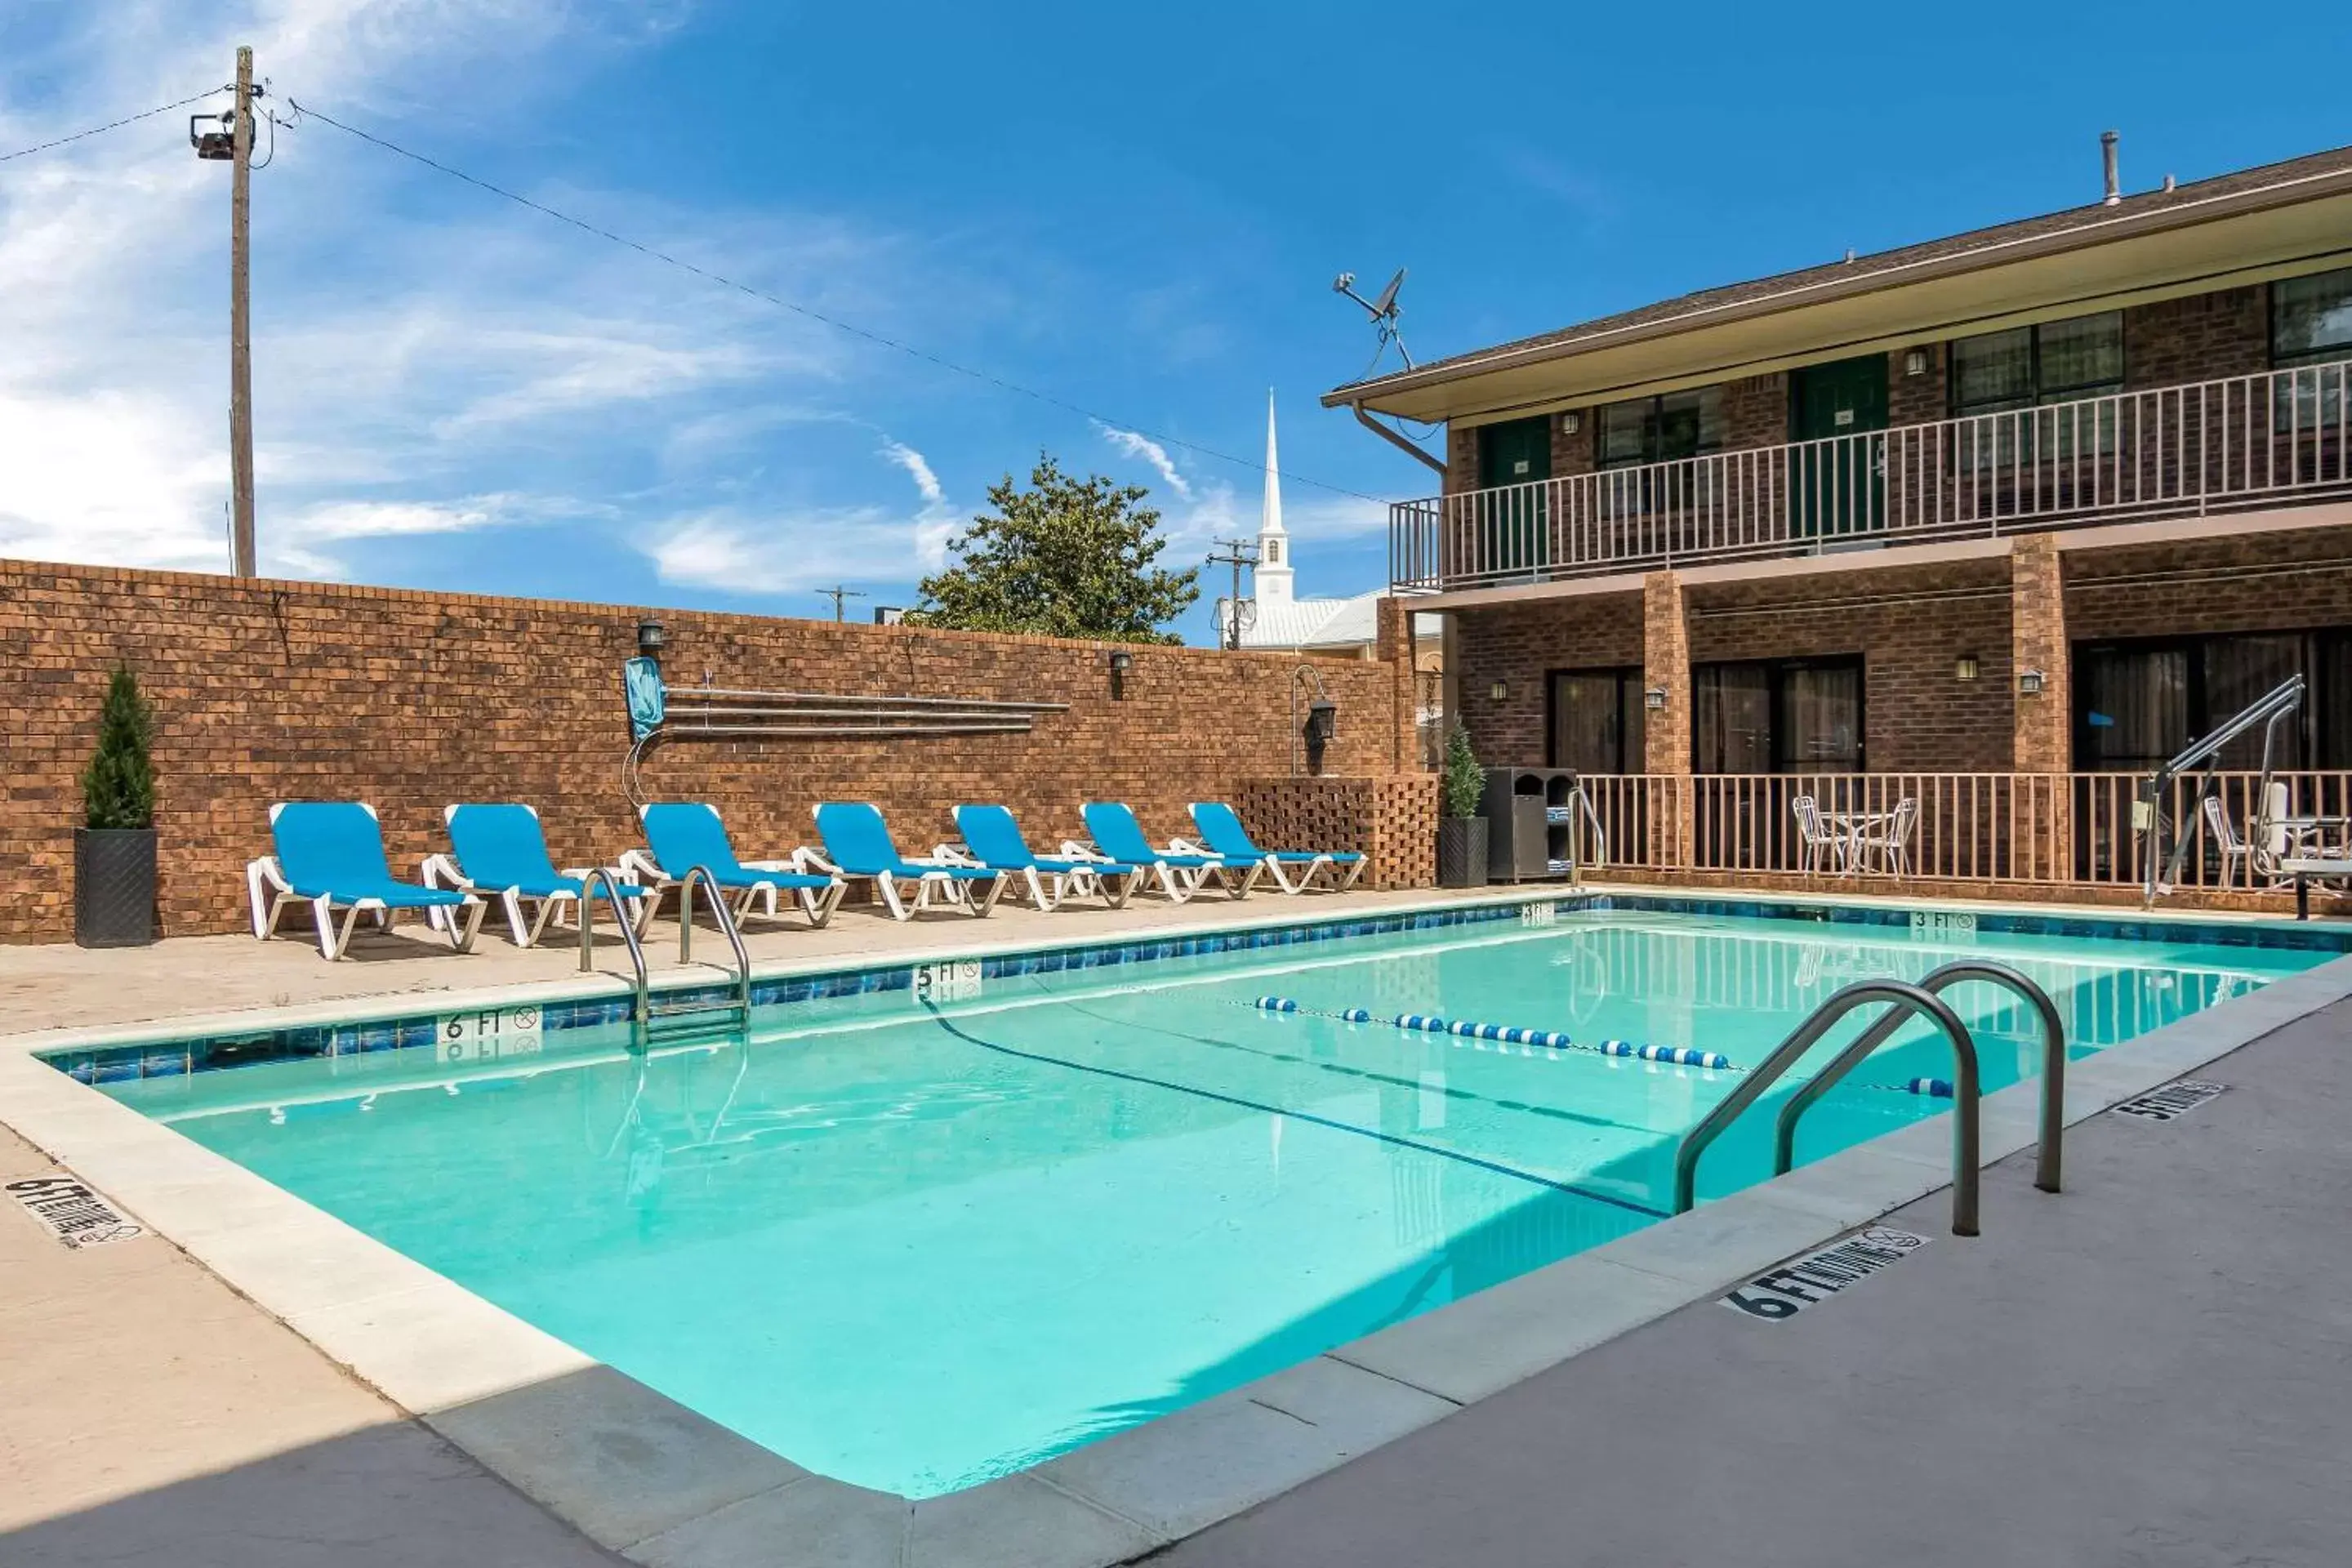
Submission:
M 1164 632 L 1200 599 L 1200 567 L 1152 567 L 1167 541 L 1150 491 L 1103 475 L 1073 480 L 1037 454 L 1028 489 L 988 487 L 990 512 L 948 541 L 955 564 L 922 581 L 913 625 L 1044 632 L 1105 642 L 1183 642 Z

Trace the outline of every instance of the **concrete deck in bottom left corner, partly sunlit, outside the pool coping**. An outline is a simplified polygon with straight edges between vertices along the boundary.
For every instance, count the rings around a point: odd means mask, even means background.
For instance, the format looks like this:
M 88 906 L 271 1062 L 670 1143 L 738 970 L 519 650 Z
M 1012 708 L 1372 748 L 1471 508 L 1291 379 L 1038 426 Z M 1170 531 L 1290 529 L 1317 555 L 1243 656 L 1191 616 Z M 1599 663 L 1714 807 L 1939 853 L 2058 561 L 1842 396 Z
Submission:
M 0 1131 L 0 1180 L 52 1166 Z M 612 1568 L 160 1237 L 0 1213 L 7 1568 Z

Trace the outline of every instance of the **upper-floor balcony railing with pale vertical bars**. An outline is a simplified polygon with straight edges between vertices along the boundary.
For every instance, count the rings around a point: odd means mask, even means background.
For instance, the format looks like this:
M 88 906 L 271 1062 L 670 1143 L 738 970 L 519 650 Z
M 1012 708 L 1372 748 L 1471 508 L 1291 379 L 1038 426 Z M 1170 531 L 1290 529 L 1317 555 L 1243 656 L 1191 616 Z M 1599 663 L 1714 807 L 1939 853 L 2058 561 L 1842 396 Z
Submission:
M 2114 393 L 1388 508 L 1399 592 L 2352 494 L 2352 364 Z

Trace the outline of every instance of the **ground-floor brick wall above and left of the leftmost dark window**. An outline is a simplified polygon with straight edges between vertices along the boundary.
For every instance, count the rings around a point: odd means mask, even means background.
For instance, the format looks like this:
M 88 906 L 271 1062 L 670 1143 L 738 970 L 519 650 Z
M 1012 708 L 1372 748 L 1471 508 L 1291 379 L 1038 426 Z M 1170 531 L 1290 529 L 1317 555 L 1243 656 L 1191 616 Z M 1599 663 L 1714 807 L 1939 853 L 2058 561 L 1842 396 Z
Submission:
M 1642 663 L 1642 595 L 1635 592 L 1496 604 L 1458 611 L 1454 621 L 1461 719 L 1479 762 L 1491 766 L 1548 762 L 1545 672 Z M 1498 679 L 1510 689 L 1501 703 L 1489 696 Z

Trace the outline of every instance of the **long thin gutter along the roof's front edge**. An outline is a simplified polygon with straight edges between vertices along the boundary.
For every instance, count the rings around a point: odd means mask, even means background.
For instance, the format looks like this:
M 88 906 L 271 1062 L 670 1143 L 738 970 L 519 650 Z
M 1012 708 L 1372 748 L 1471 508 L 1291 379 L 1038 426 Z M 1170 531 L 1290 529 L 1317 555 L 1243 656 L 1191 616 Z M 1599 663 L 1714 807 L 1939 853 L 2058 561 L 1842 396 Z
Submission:
M 1778 315 L 1780 310 L 1795 310 L 1797 306 L 1835 301 L 1835 299 L 1853 299 L 1860 294 L 1879 294 L 1884 289 L 1896 289 L 1912 282 L 1929 282 L 1936 277 L 1957 277 L 1964 273 L 1978 273 L 2009 261 L 2063 256 L 2067 252 L 2089 249 L 2093 244 L 2105 244 L 2110 240 L 2166 233 L 2173 228 L 2192 228 L 2197 223 L 2209 223 L 2213 219 L 2230 219 L 2246 212 L 2265 212 L 2270 207 L 2291 207 L 2296 202 L 2343 195 L 2347 190 L 2352 190 L 2352 167 L 2328 169 L 2324 174 L 2305 174 L 2303 179 L 2293 179 L 2279 186 L 2258 186 L 2256 190 L 2232 190 L 2227 195 L 2211 195 L 2197 202 L 2173 202 L 2169 207 L 2154 207 L 2147 212 L 2091 219 L 2089 223 L 2082 223 L 2077 228 L 2060 228 L 2046 235 L 1997 240 L 1992 244 L 1980 244 L 1966 252 L 1952 252 L 1947 256 L 1926 256 L 1922 261 L 1905 261 L 1898 266 L 1863 273 L 1860 277 L 1823 277 L 1818 282 L 1799 284 L 1795 289 L 1783 289 L 1778 294 L 1759 294 L 1755 299 L 1738 299 L 1722 306 L 1700 306 L 1698 310 L 1684 310 L 1682 315 L 1668 315 L 1651 322 L 1632 322 L 1628 327 L 1611 327 L 1606 331 L 1569 339 L 1564 343 L 1496 348 L 1463 360 L 1430 364 L 1418 371 L 1399 371 L 1395 376 L 1383 376 L 1381 381 L 1357 381 L 1352 386 L 1334 388 L 1322 395 L 1322 404 L 1327 409 L 1348 404 L 1357 409 L 1357 418 L 1362 418 L 1364 416 L 1362 407 L 1367 397 L 1414 393 L 1421 388 L 1444 386 L 1449 381 L 1468 381 L 1472 376 L 1484 376 L 1489 371 L 1512 369 L 1519 364 L 1541 364 L 1545 360 L 1571 360 L 1576 355 L 1592 353 L 1595 348 L 1613 348 L 1618 343 L 1642 343 L 1646 339 L 1665 339 L 1682 331 L 1691 331 L 1693 327 L 1700 324 L 1740 322 L 1759 315 Z M 2023 221 L 2030 223 L 2032 219 Z

